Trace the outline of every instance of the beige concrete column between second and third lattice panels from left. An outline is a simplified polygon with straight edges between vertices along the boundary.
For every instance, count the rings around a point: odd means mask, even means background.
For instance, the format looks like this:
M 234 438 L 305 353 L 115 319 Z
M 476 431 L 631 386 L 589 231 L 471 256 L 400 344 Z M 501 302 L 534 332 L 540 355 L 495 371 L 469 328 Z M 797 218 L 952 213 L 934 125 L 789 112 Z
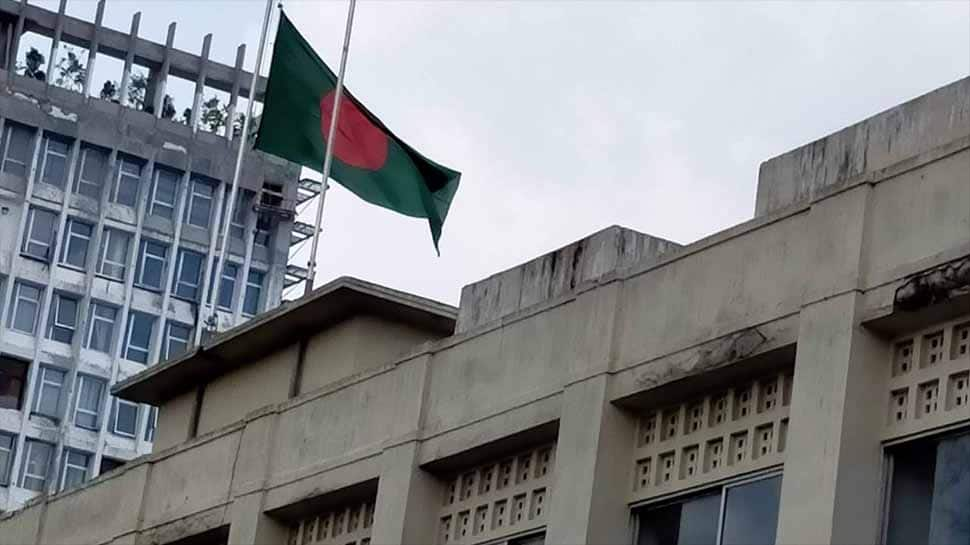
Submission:
M 609 401 L 609 375 L 566 388 L 546 543 L 631 542 L 635 419 Z

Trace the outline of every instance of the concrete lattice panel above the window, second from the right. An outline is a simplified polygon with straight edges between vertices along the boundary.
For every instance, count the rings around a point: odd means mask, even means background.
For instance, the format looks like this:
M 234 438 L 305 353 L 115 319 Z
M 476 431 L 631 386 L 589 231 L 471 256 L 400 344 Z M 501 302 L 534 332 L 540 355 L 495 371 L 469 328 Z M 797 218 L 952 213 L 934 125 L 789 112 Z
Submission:
M 631 501 L 784 462 L 790 371 L 640 415 Z

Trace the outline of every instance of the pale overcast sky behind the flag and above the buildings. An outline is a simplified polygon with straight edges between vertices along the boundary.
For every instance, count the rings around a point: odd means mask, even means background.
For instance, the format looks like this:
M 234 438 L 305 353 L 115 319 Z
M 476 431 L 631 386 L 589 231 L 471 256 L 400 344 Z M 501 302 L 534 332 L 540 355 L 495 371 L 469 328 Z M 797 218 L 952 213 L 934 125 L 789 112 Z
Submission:
M 108 0 L 105 21 L 142 11 L 161 42 L 177 21 L 189 51 L 212 32 L 229 64 L 246 42 L 252 66 L 264 5 Z M 284 5 L 336 68 L 346 2 Z M 93 17 L 93 0 L 68 6 Z M 612 224 L 689 243 L 752 217 L 760 162 L 968 74 L 966 0 L 363 0 L 348 87 L 461 188 L 438 258 L 426 222 L 333 184 L 317 285 L 352 275 L 457 303 Z

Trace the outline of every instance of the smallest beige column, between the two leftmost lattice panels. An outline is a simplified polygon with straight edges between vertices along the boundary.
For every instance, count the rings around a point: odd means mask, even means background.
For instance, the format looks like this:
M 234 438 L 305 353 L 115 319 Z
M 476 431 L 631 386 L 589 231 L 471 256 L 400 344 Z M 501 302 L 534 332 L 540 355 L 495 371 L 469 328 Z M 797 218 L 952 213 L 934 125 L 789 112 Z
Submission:
M 434 543 L 441 482 L 417 466 L 418 442 L 381 454 L 381 478 L 374 506 L 371 543 Z

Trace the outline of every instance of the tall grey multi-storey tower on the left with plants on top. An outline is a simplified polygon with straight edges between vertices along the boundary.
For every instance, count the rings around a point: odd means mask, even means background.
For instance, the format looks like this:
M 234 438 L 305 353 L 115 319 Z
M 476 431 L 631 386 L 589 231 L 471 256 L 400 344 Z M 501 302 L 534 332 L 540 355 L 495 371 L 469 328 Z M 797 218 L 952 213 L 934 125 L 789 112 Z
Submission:
M 94 22 L 65 4 L 0 0 L 0 511 L 151 451 L 157 412 L 110 387 L 277 306 L 294 206 L 313 189 L 245 155 L 218 323 L 203 324 L 239 138 L 200 129 L 200 103 L 222 90 L 229 119 L 244 111 L 245 50 L 227 66 L 208 58 L 211 35 L 194 55 L 173 48 L 174 23 L 158 44 L 138 15 L 123 33 L 101 25 L 103 1 Z M 22 39 L 50 43 L 46 64 L 17 66 L 37 58 Z M 83 69 L 65 79 L 67 53 Z M 96 61 L 118 65 L 114 93 L 92 81 Z M 195 89 L 183 123 L 165 92 L 176 77 Z

